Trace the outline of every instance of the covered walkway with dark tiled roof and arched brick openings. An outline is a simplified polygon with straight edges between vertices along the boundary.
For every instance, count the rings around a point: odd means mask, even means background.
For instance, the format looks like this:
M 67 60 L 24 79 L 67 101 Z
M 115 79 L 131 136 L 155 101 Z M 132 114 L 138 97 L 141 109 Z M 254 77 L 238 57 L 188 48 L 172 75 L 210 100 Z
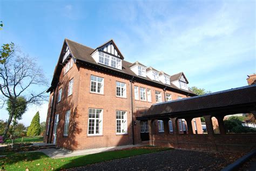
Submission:
M 255 116 L 256 85 L 154 104 L 137 119 L 149 121 L 151 145 L 213 152 L 251 151 L 256 148 L 256 134 L 226 134 L 225 115 L 237 113 Z M 192 119 L 197 117 L 205 118 L 207 134 L 193 134 Z M 218 120 L 220 134 L 214 134 L 212 117 Z M 179 134 L 178 119 L 186 120 L 187 134 Z M 163 120 L 164 132 L 158 131 L 158 120 Z

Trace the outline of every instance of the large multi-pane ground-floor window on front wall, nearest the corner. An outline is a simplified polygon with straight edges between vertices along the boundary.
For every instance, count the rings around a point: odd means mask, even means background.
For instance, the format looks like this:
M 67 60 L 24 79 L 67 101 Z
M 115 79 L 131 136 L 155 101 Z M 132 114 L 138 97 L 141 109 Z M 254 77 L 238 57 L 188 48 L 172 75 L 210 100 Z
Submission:
M 102 134 L 102 115 L 103 110 L 97 108 L 89 108 L 88 135 Z

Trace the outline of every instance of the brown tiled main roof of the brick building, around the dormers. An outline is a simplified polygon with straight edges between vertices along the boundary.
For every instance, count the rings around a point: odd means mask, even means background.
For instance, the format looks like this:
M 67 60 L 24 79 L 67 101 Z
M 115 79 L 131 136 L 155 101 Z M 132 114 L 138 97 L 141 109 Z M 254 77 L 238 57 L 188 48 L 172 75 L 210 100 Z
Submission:
M 111 72 L 114 71 L 114 72 L 116 72 L 118 74 L 123 73 L 127 77 L 131 77 L 131 78 L 136 78 L 136 79 L 139 79 L 139 80 L 147 81 L 147 83 L 152 83 L 152 84 L 154 83 L 154 84 L 157 84 L 157 86 L 169 87 L 169 88 L 171 88 L 172 91 L 176 91 L 176 92 L 180 92 L 180 93 L 184 93 L 184 94 L 190 94 L 192 96 L 196 95 L 196 94 L 194 94 L 190 90 L 188 90 L 188 91 L 180 90 L 180 88 L 174 86 L 173 84 L 171 84 L 170 86 L 167 86 L 167 85 L 165 85 L 163 83 L 160 83 L 160 82 L 157 83 L 156 81 L 153 81 L 150 78 L 144 78 L 144 77 L 137 76 L 130 69 L 130 67 L 134 66 L 134 65 L 137 65 L 137 64 L 146 67 L 145 65 L 139 63 L 138 61 L 136 61 L 135 63 L 132 64 L 129 61 L 122 60 L 122 70 L 118 70 L 118 69 L 115 69 L 115 68 L 110 67 L 110 66 L 99 64 L 91 56 L 91 54 L 93 53 L 93 51 L 95 51 L 95 49 L 92 49 L 91 47 L 87 47 L 87 46 L 84 46 L 82 44 L 73 42 L 72 40 L 69 40 L 69 39 L 65 39 L 64 40 L 62 51 L 60 52 L 58 64 L 56 65 L 56 69 L 55 69 L 55 72 L 53 74 L 53 79 L 52 79 L 51 87 L 49 88 L 48 92 L 51 91 L 52 88 L 55 88 L 55 86 L 58 83 L 58 79 L 59 79 L 59 76 L 60 76 L 60 73 L 61 73 L 62 67 L 63 67 L 63 65 L 62 65 L 62 57 L 63 57 L 63 54 L 64 54 L 65 45 L 69 46 L 69 49 L 70 49 L 70 52 L 71 52 L 71 57 L 76 62 L 78 61 L 78 62 L 81 62 L 81 63 L 86 63 L 86 64 L 90 64 L 90 65 L 93 65 L 93 66 L 102 67 L 103 69 L 107 69 L 107 70 L 109 70 Z

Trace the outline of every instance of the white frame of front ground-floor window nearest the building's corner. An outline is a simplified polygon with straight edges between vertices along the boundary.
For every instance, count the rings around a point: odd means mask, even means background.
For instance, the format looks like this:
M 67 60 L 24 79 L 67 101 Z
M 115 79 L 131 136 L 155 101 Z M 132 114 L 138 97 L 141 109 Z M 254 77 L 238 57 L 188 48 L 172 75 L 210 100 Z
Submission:
M 94 112 L 93 112 L 94 110 Z M 98 114 L 99 114 L 99 117 L 97 117 L 97 110 L 98 110 Z M 90 114 L 91 114 L 91 117 L 90 117 Z M 95 117 L 93 117 L 93 114 Z M 90 126 L 90 120 L 93 120 L 94 121 L 94 125 L 93 126 Z M 98 120 L 98 133 L 96 133 L 96 122 Z M 89 133 L 89 128 L 90 127 L 93 127 L 93 133 Z M 93 136 L 93 135 L 102 135 L 102 128 L 103 128 L 103 109 L 100 109 L 100 108 L 89 108 L 89 111 L 88 111 L 88 127 L 87 127 L 87 135 L 88 136 Z

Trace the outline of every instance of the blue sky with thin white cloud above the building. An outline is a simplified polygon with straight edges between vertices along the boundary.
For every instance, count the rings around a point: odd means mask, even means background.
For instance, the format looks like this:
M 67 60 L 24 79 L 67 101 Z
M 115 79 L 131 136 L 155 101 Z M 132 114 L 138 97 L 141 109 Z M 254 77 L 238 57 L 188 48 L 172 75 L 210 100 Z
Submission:
M 0 1 L 0 44 L 38 59 L 49 83 L 64 38 L 92 48 L 114 39 L 125 60 L 212 92 L 247 85 L 256 72 L 255 1 Z M 45 120 L 47 104 L 35 110 Z M 0 119 L 8 115 L 0 110 Z

